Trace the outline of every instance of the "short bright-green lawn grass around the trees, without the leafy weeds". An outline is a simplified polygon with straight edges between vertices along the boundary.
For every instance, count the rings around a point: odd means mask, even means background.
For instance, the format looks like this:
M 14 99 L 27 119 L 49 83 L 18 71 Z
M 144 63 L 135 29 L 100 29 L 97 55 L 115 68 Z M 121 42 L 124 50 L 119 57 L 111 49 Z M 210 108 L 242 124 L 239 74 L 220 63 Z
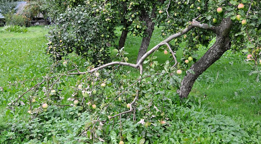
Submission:
M 38 79 L 48 71 L 47 67 L 52 62 L 45 54 L 47 32 L 48 29 L 44 27 L 31 27 L 26 34 L 6 32 L 0 28 L 0 86 L 25 79 Z M 163 40 L 159 37 L 160 33 L 160 29 L 155 29 L 149 48 Z M 132 63 L 136 62 L 140 43 L 139 37 L 127 38 L 125 50 L 129 52 L 127 56 Z M 201 48 L 199 55 L 203 55 L 205 50 Z M 155 55 L 160 63 L 167 59 L 161 52 L 156 52 Z M 234 117 L 235 120 L 237 117 L 260 120 L 260 82 L 255 81 L 255 75 L 248 75 L 251 67 L 244 62 L 244 55 L 235 55 L 228 51 L 209 67 L 195 82 L 190 95 L 198 97 L 201 104 L 208 104 L 217 113 Z M 181 56 L 182 51 L 178 51 L 177 58 L 180 59 Z M 133 70 L 133 73 L 136 71 Z M 26 81 L 18 87 L 7 87 L 0 92 L 0 129 L 4 127 L 6 119 L 14 119 L 5 116 L 8 114 L 5 109 L 7 104 L 32 85 L 35 82 Z M 27 107 L 16 110 L 15 113 L 27 120 L 29 116 L 26 111 Z

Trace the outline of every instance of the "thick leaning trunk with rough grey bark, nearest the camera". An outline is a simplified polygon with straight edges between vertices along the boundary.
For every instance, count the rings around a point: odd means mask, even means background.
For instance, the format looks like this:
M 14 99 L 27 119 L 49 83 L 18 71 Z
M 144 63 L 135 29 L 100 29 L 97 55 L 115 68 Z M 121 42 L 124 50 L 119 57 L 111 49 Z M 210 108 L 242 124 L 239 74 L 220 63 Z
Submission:
M 216 42 L 190 67 L 190 70 L 193 70 L 194 74 L 188 72 L 182 80 L 181 87 L 177 90 L 180 98 L 187 98 L 198 76 L 211 66 L 211 64 L 217 61 L 224 52 L 230 49 L 231 41 L 229 40 L 229 31 L 231 26 L 232 21 L 229 18 L 222 20 L 216 31 Z

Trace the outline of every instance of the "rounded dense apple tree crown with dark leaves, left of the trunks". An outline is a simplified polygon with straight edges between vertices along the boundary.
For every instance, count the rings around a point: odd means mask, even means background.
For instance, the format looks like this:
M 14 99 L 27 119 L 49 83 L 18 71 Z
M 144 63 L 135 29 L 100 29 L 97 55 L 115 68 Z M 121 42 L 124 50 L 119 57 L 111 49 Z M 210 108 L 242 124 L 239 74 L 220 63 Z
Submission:
M 64 55 L 75 52 L 95 65 L 109 62 L 109 47 L 116 38 L 116 21 L 109 11 L 97 8 L 97 4 L 86 2 L 84 6 L 67 8 L 55 20 L 55 27 L 49 32 L 47 54 L 51 54 L 55 60 L 61 60 Z

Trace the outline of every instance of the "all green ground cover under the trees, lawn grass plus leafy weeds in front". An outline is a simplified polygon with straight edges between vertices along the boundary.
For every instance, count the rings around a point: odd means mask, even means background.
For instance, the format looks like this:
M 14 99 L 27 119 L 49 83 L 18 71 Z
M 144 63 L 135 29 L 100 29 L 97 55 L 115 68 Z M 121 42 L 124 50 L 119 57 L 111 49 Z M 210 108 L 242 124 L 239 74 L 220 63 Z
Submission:
M 25 34 L 5 32 L 0 28 L 0 86 L 25 79 L 41 79 L 52 64 L 44 47 L 47 43 L 48 29 L 29 28 Z M 150 48 L 158 44 L 160 29 L 156 29 Z M 140 38 L 128 37 L 125 50 L 131 62 L 136 61 Z M 206 48 L 201 47 L 199 57 Z M 159 63 L 164 63 L 167 56 L 156 52 Z M 236 56 L 235 56 L 236 55 Z M 177 52 L 177 57 L 182 52 Z M 70 55 L 69 58 L 83 64 L 84 61 Z M 112 58 L 115 59 L 114 56 Z M 84 69 L 82 69 L 84 70 Z M 137 110 L 136 120 L 122 116 L 100 125 L 96 123 L 96 135 L 88 132 L 84 137 L 79 134 L 87 128 L 99 109 L 81 113 L 77 107 L 50 106 L 48 112 L 39 114 L 31 121 L 26 105 L 8 110 L 8 103 L 22 92 L 35 85 L 35 80 L 25 81 L 15 86 L 4 87 L 0 91 L 0 142 L 1 143 L 113 143 L 120 140 L 125 143 L 260 143 L 261 141 L 261 98 L 260 83 L 256 76 L 249 75 L 251 67 L 244 62 L 244 55 L 226 52 L 220 60 L 204 72 L 193 86 L 190 98 L 180 101 L 173 91 L 165 91 L 156 96 L 146 96 L 140 101 L 153 100 L 155 107 L 144 114 Z M 129 76 L 137 76 L 138 71 L 126 68 Z M 147 70 L 146 70 L 147 71 Z M 63 104 L 72 94 L 70 86 L 78 77 L 64 79 L 62 86 Z M 106 89 L 110 91 L 110 88 Z M 113 107 L 112 113 L 121 111 Z M 105 117 L 102 117 L 106 119 Z M 140 124 L 148 122 L 148 128 Z M 161 124 L 165 121 L 165 124 Z M 140 123 L 138 123 L 140 122 Z M 100 142 L 92 138 L 100 137 Z M 85 140 L 85 141 L 84 141 Z

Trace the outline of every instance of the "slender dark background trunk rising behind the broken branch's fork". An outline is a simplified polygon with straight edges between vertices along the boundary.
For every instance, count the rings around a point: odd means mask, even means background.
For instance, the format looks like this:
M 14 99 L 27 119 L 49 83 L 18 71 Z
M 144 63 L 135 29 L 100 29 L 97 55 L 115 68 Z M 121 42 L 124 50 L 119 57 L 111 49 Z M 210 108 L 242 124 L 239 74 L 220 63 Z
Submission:
M 154 25 L 155 25 L 154 22 L 147 23 L 147 29 L 146 29 L 147 36 L 142 39 L 142 42 L 140 45 L 140 50 L 139 50 L 138 57 L 137 57 L 137 62 L 147 52 L 147 49 L 149 47 L 149 42 L 152 37 L 152 33 L 154 31 Z

